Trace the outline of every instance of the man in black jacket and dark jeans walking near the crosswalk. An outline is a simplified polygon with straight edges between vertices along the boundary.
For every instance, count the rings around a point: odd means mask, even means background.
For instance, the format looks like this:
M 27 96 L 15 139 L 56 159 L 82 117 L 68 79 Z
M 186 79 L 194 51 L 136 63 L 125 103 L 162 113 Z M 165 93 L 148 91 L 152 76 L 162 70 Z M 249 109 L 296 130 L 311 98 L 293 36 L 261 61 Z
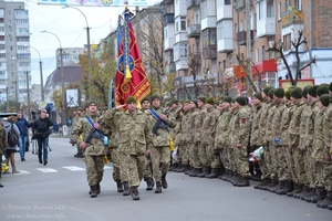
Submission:
M 43 164 L 42 161 L 42 152 L 44 166 L 48 164 L 48 147 L 49 147 L 49 135 L 50 127 L 53 126 L 53 122 L 46 117 L 48 112 L 45 109 L 41 110 L 40 117 L 34 120 L 32 124 L 32 128 L 35 130 L 37 141 L 38 141 L 38 158 L 39 164 Z

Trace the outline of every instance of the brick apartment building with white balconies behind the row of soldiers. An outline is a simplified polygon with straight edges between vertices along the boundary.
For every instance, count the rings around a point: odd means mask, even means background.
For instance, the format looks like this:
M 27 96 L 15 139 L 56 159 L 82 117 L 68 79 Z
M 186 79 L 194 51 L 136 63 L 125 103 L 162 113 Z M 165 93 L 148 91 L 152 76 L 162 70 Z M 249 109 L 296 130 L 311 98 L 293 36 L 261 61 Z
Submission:
M 229 94 L 247 92 L 247 70 L 242 64 L 248 61 L 257 86 L 279 86 L 280 80 L 289 78 L 289 72 L 279 54 L 269 49 L 282 43 L 294 75 L 298 62 L 289 52 L 299 31 L 307 40 L 299 48 L 300 66 L 315 59 L 314 64 L 301 71 L 301 78 L 312 77 L 317 84 L 332 81 L 332 6 L 326 1 L 165 0 L 160 7 L 165 61 L 170 65 L 173 54 L 179 98 L 184 96 L 184 85 L 187 90 L 194 85 L 189 65 L 193 57 L 200 65 L 196 81 L 204 84 L 208 78 L 214 86 L 226 86 Z M 258 75 L 261 81 L 257 81 Z M 214 95 L 220 91 L 225 93 L 225 88 L 217 90 Z

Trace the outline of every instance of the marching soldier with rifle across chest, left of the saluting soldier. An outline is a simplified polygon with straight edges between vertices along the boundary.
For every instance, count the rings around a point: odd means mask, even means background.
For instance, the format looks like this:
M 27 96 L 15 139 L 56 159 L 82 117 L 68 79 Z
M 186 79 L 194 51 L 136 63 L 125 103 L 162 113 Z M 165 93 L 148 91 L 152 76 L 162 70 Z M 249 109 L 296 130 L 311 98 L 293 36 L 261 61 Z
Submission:
M 97 123 L 100 115 L 97 114 L 97 105 L 95 102 L 90 102 L 89 113 L 86 114 L 94 123 L 94 128 L 101 133 L 105 133 L 105 129 Z M 85 138 L 90 134 L 92 125 L 86 118 L 80 118 L 77 126 L 72 133 L 73 141 L 77 143 L 81 148 L 84 149 L 84 162 L 86 165 L 87 182 L 91 188 L 91 198 L 97 197 L 101 192 L 100 182 L 104 175 L 104 155 L 106 149 L 101 136 L 95 131 L 90 143 L 85 143 Z M 80 140 L 80 135 L 83 136 L 83 140 Z

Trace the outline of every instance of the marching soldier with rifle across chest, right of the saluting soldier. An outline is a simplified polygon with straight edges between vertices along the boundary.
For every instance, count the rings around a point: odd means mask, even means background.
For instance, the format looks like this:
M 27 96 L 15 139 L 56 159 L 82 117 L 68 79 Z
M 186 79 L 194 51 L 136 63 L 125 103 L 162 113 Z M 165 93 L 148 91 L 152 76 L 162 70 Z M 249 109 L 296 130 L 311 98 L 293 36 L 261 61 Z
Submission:
M 176 123 L 172 118 L 167 118 L 165 114 L 162 113 L 160 98 L 158 95 L 152 96 L 152 109 L 145 110 L 148 116 L 149 128 L 157 123 L 157 116 L 153 115 L 155 112 L 158 117 L 165 122 L 169 128 L 174 128 Z M 162 192 L 162 186 L 164 189 L 168 187 L 166 181 L 166 175 L 169 167 L 169 133 L 167 129 L 159 128 L 158 135 L 153 135 L 153 146 L 149 149 L 149 155 L 153 164 L 154 178 L 156 180 L 155 193 Z M 160 171 L 160 169 L 162 171 Z

